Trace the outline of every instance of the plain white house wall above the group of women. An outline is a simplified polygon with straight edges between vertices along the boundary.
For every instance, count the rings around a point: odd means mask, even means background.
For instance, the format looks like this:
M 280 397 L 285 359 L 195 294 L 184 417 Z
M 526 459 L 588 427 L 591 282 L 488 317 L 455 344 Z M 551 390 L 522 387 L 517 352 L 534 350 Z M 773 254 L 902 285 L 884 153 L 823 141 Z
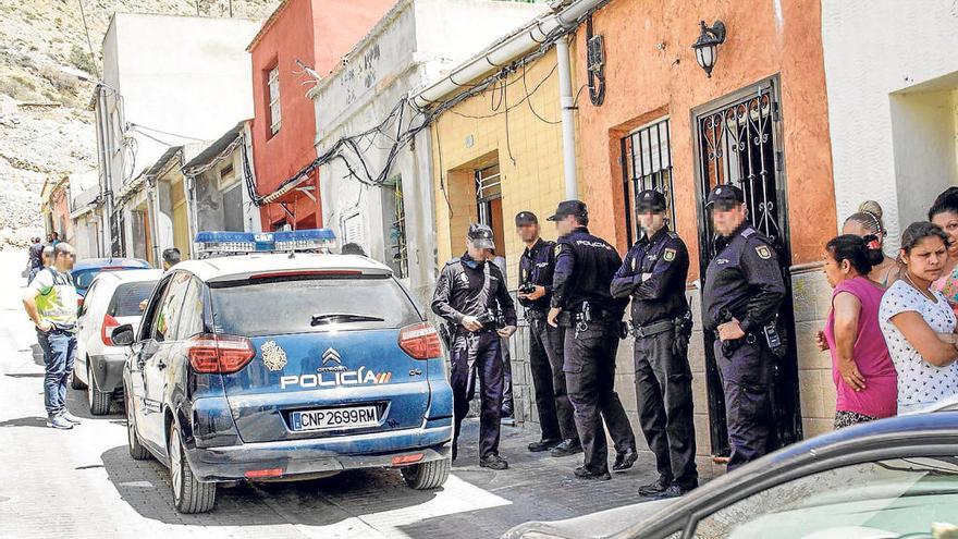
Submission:
M 926 219 L 934 197 L 958 181 L 954 144 L 941 144 L 945 124 L 954 133 L 954 112 L 936 120 L 929 96 L 916 95 L 946 89 L 958 73 L 956 28 L 954 0 L 822 0 L 838 222 L 862 200 L 877 200 L 889 253 L 901 229 Z M 948 159 L 950 177 L 947 166 L 929 162 Z

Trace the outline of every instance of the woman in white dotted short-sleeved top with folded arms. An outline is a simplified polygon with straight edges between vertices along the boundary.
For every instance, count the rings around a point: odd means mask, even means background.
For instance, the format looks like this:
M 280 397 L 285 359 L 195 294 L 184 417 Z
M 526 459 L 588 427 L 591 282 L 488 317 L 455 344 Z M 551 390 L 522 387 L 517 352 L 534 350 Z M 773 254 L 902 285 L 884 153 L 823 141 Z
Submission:
M 955 311 L 933 286 L 948 258 L 948 236 L 930 222 L 901 234 L 905 270 L 884 297 L 879 323 L 898 371 L 898 413 L 958 394 Z

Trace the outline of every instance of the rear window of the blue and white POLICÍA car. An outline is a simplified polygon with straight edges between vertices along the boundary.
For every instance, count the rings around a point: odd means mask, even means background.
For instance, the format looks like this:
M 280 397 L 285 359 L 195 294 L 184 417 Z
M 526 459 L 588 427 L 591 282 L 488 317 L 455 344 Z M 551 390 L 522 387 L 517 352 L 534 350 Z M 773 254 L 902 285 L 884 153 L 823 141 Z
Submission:
M 228 281 L 211 283 L 210 295 L 214 331 L 234 335 L 401 328 L 420 319 L 385 275 Z

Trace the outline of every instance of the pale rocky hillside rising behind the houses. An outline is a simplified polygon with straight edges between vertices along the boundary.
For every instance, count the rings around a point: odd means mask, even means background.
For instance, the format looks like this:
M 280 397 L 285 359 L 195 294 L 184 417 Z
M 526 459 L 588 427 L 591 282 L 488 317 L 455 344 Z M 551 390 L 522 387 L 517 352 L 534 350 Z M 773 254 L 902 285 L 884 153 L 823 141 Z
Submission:
M 262 20 L 279 2 L 0 0 L 0 248 L 26 245 L 42 232 L 46 179 L 96 168 L 87 106 L 114 12 L 225 17 L 232 3 L 233 16 Z

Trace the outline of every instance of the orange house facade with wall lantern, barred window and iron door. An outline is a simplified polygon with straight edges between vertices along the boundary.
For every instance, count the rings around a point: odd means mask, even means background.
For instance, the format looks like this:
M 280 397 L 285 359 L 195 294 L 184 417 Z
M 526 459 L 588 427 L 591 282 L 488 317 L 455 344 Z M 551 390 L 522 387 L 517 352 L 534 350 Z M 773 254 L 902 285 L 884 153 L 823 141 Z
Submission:
M 702 20 L 726 28 L 711 77 L 691 48 Z M 779 315 L 790 347 L 778 368 L 782 442 L 831 428 L 831 364 L 813 346 L 830 303 L 819 261 L 837 229 L 821 35 L 814 0 L 615 0 L 575 35 L 574 88 L 584 88 L 579 198 L 589 206 L 591 231 L 625 253 L 637 237 L 636 192 L 660 188 L 692 258 L 690 356 L 702 464 L 727 454 L 712 338 L 699 323 L 699 277 L 714 254 L 704 197 L 716 183 L 742 187 L 749 219 L 773 237 L 790 280 Z M 604 57 L 592 62 L 591 85 L 590 40 L 593 54 Z M 632 393 L 630 348 L 623 346 L 619 357 L 625 396 Z

